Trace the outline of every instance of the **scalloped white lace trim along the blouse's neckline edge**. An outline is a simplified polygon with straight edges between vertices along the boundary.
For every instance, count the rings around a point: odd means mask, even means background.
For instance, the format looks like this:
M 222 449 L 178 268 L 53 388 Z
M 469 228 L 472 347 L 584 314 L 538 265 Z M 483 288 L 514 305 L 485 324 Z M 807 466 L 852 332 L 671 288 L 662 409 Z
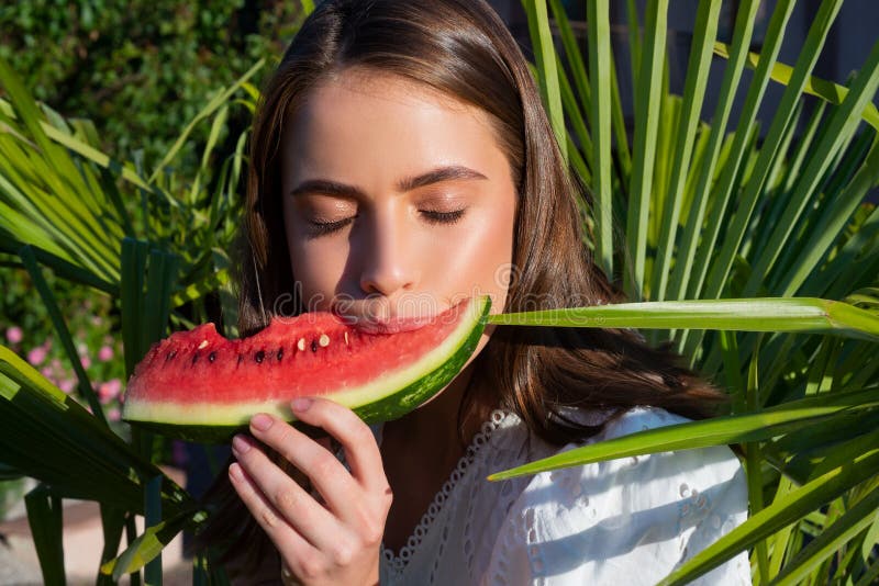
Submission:
M 482 449 L 482 447 L 488 443 L 491 433 L 501 425 L 501 422 L 510 415 L 510 412 L 504 409 L 494 409 L 491 412 L 488 420 L 485 421 L 479 430 L 479 432 L 474 436 L 472 442 L 470 446 L 467 447 L 464 455 L 460 457 L 458 460 L 455 470 L 452 471 L 452 475 L 446 480 L 443 484 L 443 487 L 433 498 L 431 506 L 427 507 L 427 511 L 421 517 L 419 525 L 415 526 L 414 532 L 409 536 L 405 545 L 400 549 L 399 554 L 394 554 L 393 551 L 386 548 L 382 543 L 381 545 L 381 555 L 387 562 L 388 566 L 397 574 L 400 574 L 409 563 L 409 560 L 418 551 L 421 542 L 424 540 L 424 537 L 427 534 L 433 522 L 443 511 L 443 505 L 449 500 L 449 497 L 455 491 L 455 487 L 458 485 L 460 480 L 464 477 L 467 469 L 476 460 L 476 455 Z

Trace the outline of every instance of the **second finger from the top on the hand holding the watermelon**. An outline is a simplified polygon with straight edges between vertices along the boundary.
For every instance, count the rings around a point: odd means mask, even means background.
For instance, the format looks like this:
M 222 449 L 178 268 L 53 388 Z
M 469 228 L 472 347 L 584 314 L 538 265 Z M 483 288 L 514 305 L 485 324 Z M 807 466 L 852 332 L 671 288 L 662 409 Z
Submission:
M 364 488 L 332 452 L 281 419 L 269 415 L 255 415 L 251 419 L 251 431 L 256 439 L 277 450 L 304 473 L 330 510 L 343 521 L 359 522 L 364 500 L 358 496 L 363 495 Z

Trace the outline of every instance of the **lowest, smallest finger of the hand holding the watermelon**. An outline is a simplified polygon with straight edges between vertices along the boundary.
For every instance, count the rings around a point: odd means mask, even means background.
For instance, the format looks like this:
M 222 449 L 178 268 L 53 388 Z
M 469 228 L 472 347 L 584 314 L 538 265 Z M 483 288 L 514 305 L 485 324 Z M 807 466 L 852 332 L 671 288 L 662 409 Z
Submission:
M 244 506 L 283 557 L 299 559 L 318 554 L 318 550 L 288 525 L 238 462 L 229 466 L 229 478 Z

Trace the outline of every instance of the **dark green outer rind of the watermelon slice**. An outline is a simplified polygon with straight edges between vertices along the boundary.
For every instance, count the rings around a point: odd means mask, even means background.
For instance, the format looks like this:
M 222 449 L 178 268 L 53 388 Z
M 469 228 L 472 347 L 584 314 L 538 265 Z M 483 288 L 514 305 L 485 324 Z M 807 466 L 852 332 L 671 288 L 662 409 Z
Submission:
M 363 405 L 349 405 L 352 410 L 367 424 L 390 421 L 415 409 L 452 382 L 467 363 L 474 350 L 476 350 L 488 320 L 491 298 L 489 296 L 483 296 L 476 303 L 482 304 L 479 309 L 479 315 L 470 326 L 467 336 L 455 347 L 448 359 L 441 362 L 437 368 L 427 372 L 425 375 L 420 376 L 411 384 L 394 393 Z M 469 312 L 471 309 L 467 308 L 466 311 Z M 327 396 L 327 398 L 332 398 L 332 395 Z M 309 426 L 296 421 L 292 416 L 288 419 L 293 426 L 309 435 L 320 433 L 319 430 L 314 430 L 313 428 L 309 428 Z M 235 433 L 247 430 L 246 425 L 237 422 L 233 425 L 180 425 L 140 419 L 126 419 L 126 421 L 166 437 L 200 443 L 227 443 Z

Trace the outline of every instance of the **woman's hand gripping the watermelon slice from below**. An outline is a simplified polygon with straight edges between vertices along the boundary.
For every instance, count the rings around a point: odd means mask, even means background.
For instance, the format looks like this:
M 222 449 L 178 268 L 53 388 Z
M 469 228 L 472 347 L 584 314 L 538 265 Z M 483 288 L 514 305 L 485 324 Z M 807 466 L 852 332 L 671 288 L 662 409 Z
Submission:
M 315 500 L 245 436 L 236 436 L 232 486 L 275 543 L 286 577 L 302 584 L 378 584 L 391 491 L 369 427 L 351 409 L 321 398 L 294 399 L 293 414 L 345 449 L 351 473 L 323 446 L 268 415 L 251 419 L 254 437 L 305 474 Z M 285 581 L 289 582 L 289 581 Z

